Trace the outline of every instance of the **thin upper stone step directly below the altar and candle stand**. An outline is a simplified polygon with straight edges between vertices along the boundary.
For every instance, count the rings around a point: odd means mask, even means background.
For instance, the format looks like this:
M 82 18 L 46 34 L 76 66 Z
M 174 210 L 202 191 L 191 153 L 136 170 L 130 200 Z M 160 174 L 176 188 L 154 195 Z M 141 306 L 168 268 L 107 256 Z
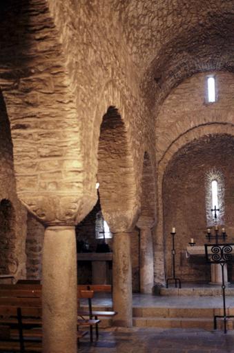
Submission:
M 226 296 L 234 296 L 234 288 L 225 290 Z M 160 288 L 162 296 L 222 296 L 221 285 L 211 288 Z

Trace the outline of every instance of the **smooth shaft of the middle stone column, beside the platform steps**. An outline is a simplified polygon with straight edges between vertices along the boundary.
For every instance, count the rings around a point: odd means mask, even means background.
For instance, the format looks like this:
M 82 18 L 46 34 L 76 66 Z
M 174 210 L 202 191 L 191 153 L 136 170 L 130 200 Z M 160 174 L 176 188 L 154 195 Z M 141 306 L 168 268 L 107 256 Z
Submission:
M 132 266 L 130 233 L 115 233 L 113 238 L 113 306 L 118 312 L 114 325 L 133 326 Z

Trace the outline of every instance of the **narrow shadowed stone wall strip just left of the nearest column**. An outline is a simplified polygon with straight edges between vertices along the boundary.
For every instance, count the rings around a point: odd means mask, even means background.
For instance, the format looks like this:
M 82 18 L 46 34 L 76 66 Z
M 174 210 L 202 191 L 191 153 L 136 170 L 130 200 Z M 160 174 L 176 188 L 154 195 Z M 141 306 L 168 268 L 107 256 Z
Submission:
M 43 225 L 28 212 L 26 238 L 27 279 L 41 279 L 44 232 Z

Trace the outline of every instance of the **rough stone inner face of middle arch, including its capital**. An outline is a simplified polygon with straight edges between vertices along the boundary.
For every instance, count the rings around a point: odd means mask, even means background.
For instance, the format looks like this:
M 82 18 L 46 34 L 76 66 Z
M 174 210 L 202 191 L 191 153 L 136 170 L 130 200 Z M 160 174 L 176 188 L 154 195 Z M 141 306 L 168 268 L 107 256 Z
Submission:
M 133 157 L 126 126 L 114 106 L 108 108 L 101 123 L 97 180 L 101 210 L 110 230 L 116 232 L 116 222 L 118 229 L 130 230 L 138 216 Z

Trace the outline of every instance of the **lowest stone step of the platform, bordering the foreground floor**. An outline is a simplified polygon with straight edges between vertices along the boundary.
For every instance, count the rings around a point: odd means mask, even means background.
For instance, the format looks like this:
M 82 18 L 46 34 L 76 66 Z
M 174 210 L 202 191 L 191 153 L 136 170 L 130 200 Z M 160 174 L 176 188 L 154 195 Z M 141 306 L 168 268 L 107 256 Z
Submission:
M 213 318 L 162 318 L 162 317 L 134 317 L 135 327 L 157 327 L 157 328 L 199 328 L 203 330 L 213 330 Z M 223 321 L 217 321 L 217 329 L 223 330 Z M 227 329 L 234 329 L 234 322 L 227 322 Z

